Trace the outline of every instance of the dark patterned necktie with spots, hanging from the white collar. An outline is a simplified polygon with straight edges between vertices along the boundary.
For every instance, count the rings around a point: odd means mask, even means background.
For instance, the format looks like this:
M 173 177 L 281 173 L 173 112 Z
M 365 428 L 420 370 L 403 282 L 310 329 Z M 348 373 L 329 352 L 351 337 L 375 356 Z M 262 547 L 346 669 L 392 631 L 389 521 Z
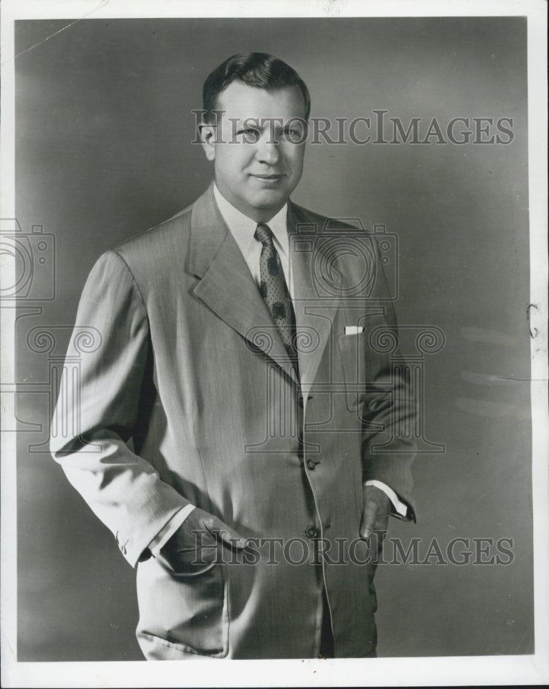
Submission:
M 296 315 L 288 291 L 280 256 L 273 243 L 273 232 L 269 225 L 259 223 L 254 237 L 262 244 L 259 258 L 260 294 L 273 317 L 287 354 L 298 371 L 298 352 L 294 345 L 296 336 Z

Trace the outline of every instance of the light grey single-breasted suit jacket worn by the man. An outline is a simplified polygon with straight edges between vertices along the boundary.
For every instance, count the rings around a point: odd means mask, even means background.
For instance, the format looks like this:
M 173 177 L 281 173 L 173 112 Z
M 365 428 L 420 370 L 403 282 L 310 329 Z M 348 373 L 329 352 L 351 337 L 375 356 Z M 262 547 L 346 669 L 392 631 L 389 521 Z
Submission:
M 74 393 L 61 384 L 69 430 L 51 449 L 137 566 L 150 659 L 315 657 L 324 587 L 336 655 L 375 647 L 362 482 L 413 506 L 402 429 L 414 409 L 372 339 L 394 330 L 391 296 L 371 236 L 293 203 L 288 227 L 299 380 L 212 187 L 101 256 L 83 291 L 76 326 L 101 346 Z M 194 576 L 147 559 L 189 502 L 255 539 L 256 555 Z

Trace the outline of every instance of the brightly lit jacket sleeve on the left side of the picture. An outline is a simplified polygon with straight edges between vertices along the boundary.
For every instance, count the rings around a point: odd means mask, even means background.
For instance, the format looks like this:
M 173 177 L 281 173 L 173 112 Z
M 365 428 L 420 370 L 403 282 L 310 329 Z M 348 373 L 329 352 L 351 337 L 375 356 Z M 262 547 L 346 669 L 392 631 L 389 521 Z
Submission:
M 82 352 L 76 333 L 86 327 L 99 331 L 99 346 Z M 150 346 L 147 312 L 134 277 L 119 254 L 107 252 L 83 289 L 67 353 L 67 359 L 79 357 L 79 379 L 74 382 L 74 368 L 64 368 L 50 451 L 132 566 L 189 503 L 127 446 Z

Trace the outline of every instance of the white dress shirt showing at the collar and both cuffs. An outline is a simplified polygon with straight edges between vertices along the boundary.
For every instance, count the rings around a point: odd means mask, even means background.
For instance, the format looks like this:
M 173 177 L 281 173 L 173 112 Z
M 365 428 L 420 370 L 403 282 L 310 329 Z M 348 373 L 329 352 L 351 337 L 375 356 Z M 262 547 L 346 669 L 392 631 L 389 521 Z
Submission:
M 223 220 L 232 236 L 238 244 L 238 248 L 244 256 L 244 260 L 247 263 L 249 271 L 256 281 L 258 287 L 260 286 L 260 267 L 259 258 L 261 255 L 262 244 L 258 242 L 255 238 L 256 228 L 258 223 L 256 220 L 251 220 L 248 216 L 245 216 L 237 208 L 234 207 L 225 196 L 222 196 L 217 185 L 214 183 L 214 196 L 216 198 L 216 203 L 219 207 L 220 213 Z M 285 203 L 280 211 L 273 216 L 269 223 L 271 232 L 274 237 L 274 245 L 278 251 L 278 256 L 280 256 L 280 263 L 282 264 L 282 270 L 284 271 L 284 278 L 286 278 L 286 284 L 288 285 L 288 291 L 290 297 L 293 299 L 293 280 L 292 280 L 292 266 L 289 257 L 289 237 L 288 237 L 288 227 L 287 227 L 287 215 L 288 215 L 288 204 Z M 408 507 L 404 502 L 399 500 L 397 494 L 393 489 L 389 488 L 386 484 L 381 481 L 369 480 L 365 482 L 366 486 L 376 486 L 382 490 L 391 503 L 393 504 L 394 512 L 392 513 L 395 517 L 406 517 L 408 513 Z M 194 505 L 187 505 L 183 507 L 172 519 L 167 522 L 164 528 L 152 539 L 149 544 L 149 551 L 152 555 L 158 555 L 159 551 L 163 546 L 169 541 L 169 539 L 176 533 L 178 528 L 187 519 L 187 516 L 194 510 Z

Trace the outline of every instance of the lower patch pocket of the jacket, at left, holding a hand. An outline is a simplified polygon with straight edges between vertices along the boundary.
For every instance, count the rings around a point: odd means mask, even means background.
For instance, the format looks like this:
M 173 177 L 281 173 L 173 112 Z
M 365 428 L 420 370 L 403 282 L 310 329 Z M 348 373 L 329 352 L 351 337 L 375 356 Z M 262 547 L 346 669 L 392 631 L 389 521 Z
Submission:
M 138 568 L 140 638 L 182 653 L 224 657 L 228 652 L 225 564 L 195 575 L 173 573 L 151 558 Z

